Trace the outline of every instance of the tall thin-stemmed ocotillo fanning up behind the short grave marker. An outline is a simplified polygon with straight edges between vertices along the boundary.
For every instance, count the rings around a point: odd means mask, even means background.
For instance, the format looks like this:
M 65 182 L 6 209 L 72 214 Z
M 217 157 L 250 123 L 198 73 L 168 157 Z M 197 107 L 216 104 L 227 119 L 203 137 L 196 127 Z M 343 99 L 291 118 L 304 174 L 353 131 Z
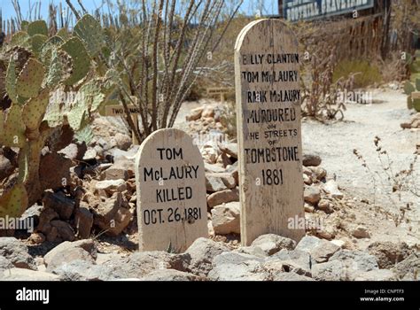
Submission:
M 174 125 L 183 101 L 198 76 L 208 71 L 206 61 L 225 33 L 217 31 L 216 25 L 224 19 L 229 27 L 242 1 L 224 16 L 222 0 L 136 4 L 136 10 L 120 4 L 117 21 L 113 14 L 103 19 L 110 25 L 105 64 L 113 68 L 128 126 L 141 143 L 154 130 Z M 137 128 L 128 117 L 128 105 L 139 106 L 142 126 Z

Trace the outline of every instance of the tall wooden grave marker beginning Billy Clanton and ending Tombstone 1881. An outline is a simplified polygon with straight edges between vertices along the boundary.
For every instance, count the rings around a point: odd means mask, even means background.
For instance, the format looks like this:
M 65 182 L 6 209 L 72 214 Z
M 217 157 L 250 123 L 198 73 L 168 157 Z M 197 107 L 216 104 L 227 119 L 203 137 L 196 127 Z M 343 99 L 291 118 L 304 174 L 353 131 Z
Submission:
M 241 241 L 305 235 L 296 35 L 278 19 L 248 24 L 235 46 Z M 299 225 L 300 224 L 300 225 Z

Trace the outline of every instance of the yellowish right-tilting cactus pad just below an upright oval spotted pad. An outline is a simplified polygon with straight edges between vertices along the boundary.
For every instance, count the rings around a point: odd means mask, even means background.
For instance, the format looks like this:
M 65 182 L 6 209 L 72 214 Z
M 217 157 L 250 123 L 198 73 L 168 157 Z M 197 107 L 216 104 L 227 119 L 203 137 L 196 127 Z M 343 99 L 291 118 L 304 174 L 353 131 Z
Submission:
M 43 89 L 38 97 L 29 99 L 23 107 L 22 119 L 29 130 L 34 131 L 39 128 L 47 110 L 49 99 L 50 90 Z

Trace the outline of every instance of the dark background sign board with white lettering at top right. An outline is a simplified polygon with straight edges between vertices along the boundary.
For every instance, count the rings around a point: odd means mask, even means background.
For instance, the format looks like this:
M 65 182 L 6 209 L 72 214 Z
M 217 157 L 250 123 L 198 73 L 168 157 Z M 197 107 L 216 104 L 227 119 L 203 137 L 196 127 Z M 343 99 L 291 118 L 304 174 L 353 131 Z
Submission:
M 284 0 L 283 16 L 290 21 L 321 19 L 373 5 L 374 0 Z

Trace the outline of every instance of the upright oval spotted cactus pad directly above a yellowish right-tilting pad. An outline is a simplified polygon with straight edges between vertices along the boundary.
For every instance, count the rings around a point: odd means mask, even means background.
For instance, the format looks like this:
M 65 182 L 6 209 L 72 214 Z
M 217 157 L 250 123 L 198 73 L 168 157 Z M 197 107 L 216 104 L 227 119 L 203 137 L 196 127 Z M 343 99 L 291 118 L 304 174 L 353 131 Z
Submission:
M 38 96 L 44 74 L 43 64 L 35 58 L 29 58 L 18 77 L 18 95 L 26 98 Z

